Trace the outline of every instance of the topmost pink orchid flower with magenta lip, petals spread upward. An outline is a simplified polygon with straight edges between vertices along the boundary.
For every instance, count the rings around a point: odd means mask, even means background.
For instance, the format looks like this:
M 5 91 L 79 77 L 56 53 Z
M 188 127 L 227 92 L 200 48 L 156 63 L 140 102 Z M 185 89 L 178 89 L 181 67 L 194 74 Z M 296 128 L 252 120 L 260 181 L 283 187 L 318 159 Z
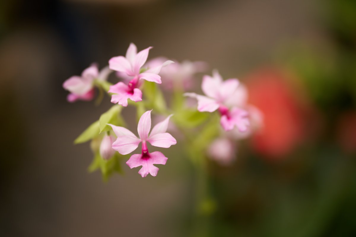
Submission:
M 131 99 L 134 102 L 142 101 L 142 92 L 138 89 L 141 86 L 140 79 L 146 81 L 156 82 L 161 84 L 161 76 L 158 73 L 162 67 L 173 63 L 171 60 L 167 60 L 161 65 L 144 70 L 142 66 L 146 63 L 148 52 L 152 47 L 143 49 L 137 53 L 137 47 L 131 43 L 127 49 L 126 56 L 117 56 L 109 60 L 109 67 L 112 70 L 118 71 L 121 74 L 125 73 L 131 80 L 126 85 L 124 82 L 119 82 L 116 85 L 110 86 L 110 93 L 114 93 L 111 97 L 112 103 L 118 103 L 124 107 L 127 106 L 127 99 Z M 142 70 L 144 70 L 142 72 Z

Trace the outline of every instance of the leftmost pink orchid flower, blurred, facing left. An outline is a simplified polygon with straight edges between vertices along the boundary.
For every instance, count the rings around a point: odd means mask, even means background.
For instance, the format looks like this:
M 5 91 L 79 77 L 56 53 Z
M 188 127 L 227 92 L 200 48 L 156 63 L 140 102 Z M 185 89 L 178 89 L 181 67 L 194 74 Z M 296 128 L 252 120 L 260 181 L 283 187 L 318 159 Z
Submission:
M 94 98 L 94 79 L 105 81 L 111 70 L 106 67 L 99 72 L 98 65 L 91 64 L 82 72 L 81 76 L 72 76 L 63 83 L 63 88 L 70 92 L 69 102 L 77 100 L 90 101 Z

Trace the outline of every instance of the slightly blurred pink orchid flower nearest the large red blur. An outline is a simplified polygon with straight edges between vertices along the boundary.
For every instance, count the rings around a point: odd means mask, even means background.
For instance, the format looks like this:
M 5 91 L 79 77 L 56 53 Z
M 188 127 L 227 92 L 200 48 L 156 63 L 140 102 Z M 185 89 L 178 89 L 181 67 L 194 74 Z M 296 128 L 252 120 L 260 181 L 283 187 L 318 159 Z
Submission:
M 220 124 L 225 131 L 232 130 L 235 126 L 240 131 L 246 131 L 250 125 L 248 112 L 242 109 L 246 103 L 247 92 L 239 86 L 237 79 L 223 81 L 218 71 L 213 71 L 213 76 L 205 75 L 201 83 L 201 90 L 206 96 L 196 93 L 184 93 L 185 96 L 197 98 L 198 111 L 219 111 Z

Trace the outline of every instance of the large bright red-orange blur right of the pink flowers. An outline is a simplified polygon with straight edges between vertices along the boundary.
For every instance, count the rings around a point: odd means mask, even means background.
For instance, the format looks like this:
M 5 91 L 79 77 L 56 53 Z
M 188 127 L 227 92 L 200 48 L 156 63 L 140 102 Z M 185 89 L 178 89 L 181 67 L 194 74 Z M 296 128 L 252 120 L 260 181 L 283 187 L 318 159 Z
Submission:
M 269 159 L 283 158 L 305 136 L 305 109 L 299 96 L 302 93 L 286 79 L 278 70 L 265 69 L 246 80 L 250 103 L 264 116 L 263 127 L 253 136 L 252 145 Z

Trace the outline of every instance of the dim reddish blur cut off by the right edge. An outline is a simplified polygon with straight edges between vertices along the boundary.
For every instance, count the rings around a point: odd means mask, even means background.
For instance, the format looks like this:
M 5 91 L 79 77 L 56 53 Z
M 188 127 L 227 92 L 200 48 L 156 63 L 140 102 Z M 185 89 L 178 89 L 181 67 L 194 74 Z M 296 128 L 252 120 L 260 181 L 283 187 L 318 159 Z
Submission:
M 356 111 L 346 112 L 340 116 L 337 138 L 344 152 L 356 151 Z

